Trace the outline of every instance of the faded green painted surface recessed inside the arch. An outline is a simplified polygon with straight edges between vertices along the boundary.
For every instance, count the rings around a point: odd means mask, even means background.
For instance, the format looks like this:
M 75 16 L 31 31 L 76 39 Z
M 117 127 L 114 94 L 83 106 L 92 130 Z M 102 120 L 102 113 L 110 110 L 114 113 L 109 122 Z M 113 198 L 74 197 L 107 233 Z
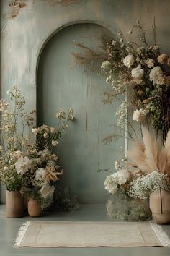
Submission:
M 104 203 L 104 177 L 98 169 L 114 168 L 117 151 L 123 140 L 104 145 L 102 140 L 112 132 L 118 103 L 103 106 L 108 87 L 96 73 L 86 74 L 84 67 L 72 67 L 73 41 L 97 49 L 101 35 L 108 31 L 99 25 L 71 25 L 53 36 L 42 51 L 38 72 L 38 124 L 56 126 L 55 111 L 72 107 L 75 120 L 58 145 L 58 155 L 66 184 L 81 203 Z M 80 50 L 78 50 L 80 51 Z

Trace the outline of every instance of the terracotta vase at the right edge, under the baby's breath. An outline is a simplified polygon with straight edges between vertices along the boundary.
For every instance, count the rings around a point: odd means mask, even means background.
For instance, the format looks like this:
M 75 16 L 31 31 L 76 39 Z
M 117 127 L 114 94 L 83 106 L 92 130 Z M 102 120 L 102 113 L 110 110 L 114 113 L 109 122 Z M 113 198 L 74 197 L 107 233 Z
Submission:
M 158 224 L 170 222 L 170 192 L 160 190 L 151 193 L 149 197 L 149 205 L 153 219 Z

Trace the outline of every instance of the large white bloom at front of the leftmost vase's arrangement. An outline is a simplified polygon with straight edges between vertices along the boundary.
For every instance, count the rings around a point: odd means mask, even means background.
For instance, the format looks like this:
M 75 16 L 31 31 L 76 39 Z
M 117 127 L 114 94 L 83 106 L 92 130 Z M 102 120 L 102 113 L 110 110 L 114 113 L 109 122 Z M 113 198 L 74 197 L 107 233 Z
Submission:
M 24 158 L 20 157 L 15 163 L 17 174 L 24 174 L 31 168 L 31 166 L 32 161 L 27 156 L 24 156 Z

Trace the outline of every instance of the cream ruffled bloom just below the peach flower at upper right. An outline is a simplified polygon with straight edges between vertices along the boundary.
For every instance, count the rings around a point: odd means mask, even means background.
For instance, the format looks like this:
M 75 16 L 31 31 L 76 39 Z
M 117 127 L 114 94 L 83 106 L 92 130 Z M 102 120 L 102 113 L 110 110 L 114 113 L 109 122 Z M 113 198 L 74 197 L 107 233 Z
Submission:
M 153 69 L 151 69 L 149 78 L 151 81 L 153 81 L 153 84 L 164 85 L 164 74 L 161 70 L 161 67 L 159 66 L 153 67 Z

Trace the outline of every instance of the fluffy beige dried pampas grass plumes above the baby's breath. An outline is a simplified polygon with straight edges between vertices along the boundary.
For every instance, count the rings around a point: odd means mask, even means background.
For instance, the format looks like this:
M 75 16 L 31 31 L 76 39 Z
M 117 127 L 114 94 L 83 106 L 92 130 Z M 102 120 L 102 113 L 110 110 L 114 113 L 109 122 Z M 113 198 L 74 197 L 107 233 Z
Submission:
M 133 161 L 133 166 L 144 173 L 158 170 L 170 176 L 170 131 L 164 145 L 151 135 L 148 129 L 142 128 L 143 142 L 135 140 L 133 149 L 128 151 L 128 156 Z

